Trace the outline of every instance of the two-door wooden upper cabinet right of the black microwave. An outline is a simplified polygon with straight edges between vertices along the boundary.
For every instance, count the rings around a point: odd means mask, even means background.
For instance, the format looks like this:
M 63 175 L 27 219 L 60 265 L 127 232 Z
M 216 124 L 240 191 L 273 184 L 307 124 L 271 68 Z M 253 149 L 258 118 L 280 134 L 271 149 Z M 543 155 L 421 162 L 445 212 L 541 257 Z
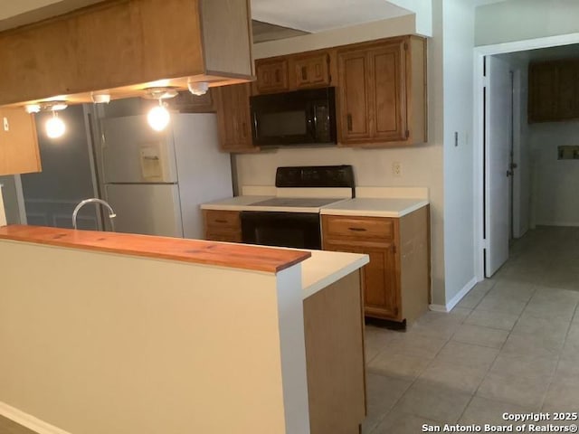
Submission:
M 338 48 L 342 145 L 398 146 L 427 140 L 425 43 L 417 36 L 403 36 Z

